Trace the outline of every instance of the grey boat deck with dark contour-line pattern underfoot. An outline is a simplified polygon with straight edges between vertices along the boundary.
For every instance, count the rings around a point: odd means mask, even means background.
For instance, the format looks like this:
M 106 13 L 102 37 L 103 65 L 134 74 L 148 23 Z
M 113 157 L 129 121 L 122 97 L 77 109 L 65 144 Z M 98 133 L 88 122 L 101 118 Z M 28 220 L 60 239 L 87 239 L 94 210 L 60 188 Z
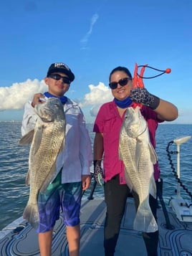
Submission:
M 115 255 L 145 256 L 142 234 L 133 230 L 135 205 L 128 198 L 125 216 L 120 229 Z M 168 217 L 173 229 L 167 229 L 163 210 L 158 209 L 158 228 L 160 232 L 158 255 L 191 256 L 192 222 L 179 222 L 172 211 Z M 104 255 L 103 228 L 105 222 L 105 202 L 103 199 L 82 200 L 81 209 L 81 256 Z M 67 239 L 62 217 L 57 221 L 52 242 L 52 256 L 68 255 Z M 0 232 L 0 255 L 30 256 L 39 255 L 37 233 L 28 222 L 19 218 Z

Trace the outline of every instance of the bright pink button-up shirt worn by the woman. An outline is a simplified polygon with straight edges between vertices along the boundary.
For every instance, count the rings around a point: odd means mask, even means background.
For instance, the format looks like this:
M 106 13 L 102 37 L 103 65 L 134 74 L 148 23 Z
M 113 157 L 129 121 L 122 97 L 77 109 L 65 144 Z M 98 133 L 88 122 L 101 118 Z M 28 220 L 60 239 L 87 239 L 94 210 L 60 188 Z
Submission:
M 158 128 L 158 123 L 163 122 L 159 120 L 157 113 L 143 105 L 141 113 L 148 123 L 148 130 L 150 133 L 150 141 L 155 148 L 155 131 Z M 123 115 L 124 118 L 124 115 Z M 101 106 L 97 117 L 93 131 L 95 133 L 103 134 L 103 169 L 105 172 L 105 181 L 109 181 L 117 174 L 120 174 L 120 184 L 125 184 L 124 177 L 124 164 L 119 159 L 118 147 L 119 147 L 119 136 L 120 128 L 123 123 L 123 118 L 120 117 L 117 106 L 114 100 L 109 103 L 105 103 Z M 160 176 L 160 169 L 158 163 L 154 165 L 154 177 L 157 180 Z

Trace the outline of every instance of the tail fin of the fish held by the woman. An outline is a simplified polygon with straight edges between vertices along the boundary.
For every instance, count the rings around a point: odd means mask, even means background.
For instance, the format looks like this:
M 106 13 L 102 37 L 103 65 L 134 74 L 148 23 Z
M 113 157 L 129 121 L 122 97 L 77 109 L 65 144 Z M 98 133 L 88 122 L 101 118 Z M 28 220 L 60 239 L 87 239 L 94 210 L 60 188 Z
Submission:
M 149 209 L 142 209 L 142 207 L 138 207 L 133 222 L 133 229 L 147 233 L 158 230 L 158 224 L 155 221 L 155 217 L 153 216 L 150 207 Z

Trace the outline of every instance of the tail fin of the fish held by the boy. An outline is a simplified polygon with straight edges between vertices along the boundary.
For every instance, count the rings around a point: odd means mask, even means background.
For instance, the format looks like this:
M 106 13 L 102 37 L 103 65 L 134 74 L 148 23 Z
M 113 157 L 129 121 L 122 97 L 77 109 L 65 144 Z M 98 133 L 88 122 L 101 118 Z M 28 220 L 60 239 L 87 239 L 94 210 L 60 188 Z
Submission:
M 39 226 L 39 211 L 38 211 L 38 205 L 37 204 L 27 204 L 27 207 L 24 209 L 23 213 L 24 219 L 26 219 L 29 224 L 34 229 L 37 229 Z

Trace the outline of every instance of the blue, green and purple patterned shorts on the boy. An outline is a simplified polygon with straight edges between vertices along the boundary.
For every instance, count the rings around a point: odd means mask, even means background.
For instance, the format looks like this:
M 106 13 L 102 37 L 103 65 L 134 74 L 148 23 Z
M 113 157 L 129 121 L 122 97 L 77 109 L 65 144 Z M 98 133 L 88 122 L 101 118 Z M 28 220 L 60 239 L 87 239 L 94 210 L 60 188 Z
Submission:
M 80 224 L 82 182 L 61 184 L 61 174 L 60 171 L 44 194 L 39 192 L 38 233 L 53 229 L 56 220 L 59 219 L 60 209 L 62 209 L 64 224 L 69 227 Z

